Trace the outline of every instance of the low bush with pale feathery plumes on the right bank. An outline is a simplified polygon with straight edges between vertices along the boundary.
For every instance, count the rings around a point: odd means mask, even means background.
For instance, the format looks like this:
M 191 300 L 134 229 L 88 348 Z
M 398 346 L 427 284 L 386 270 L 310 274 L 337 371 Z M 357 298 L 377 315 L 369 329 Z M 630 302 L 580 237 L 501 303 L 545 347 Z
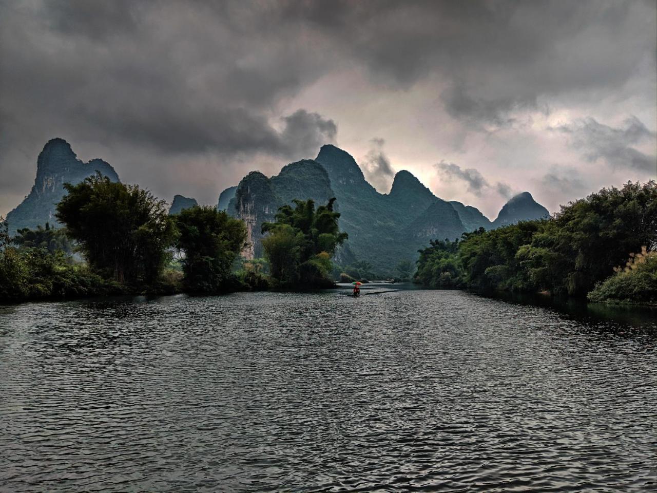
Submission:
M 630 254 L 624 268 L 598 283 L 588 294 L 589 301 L 657 304 L 657 252 Z

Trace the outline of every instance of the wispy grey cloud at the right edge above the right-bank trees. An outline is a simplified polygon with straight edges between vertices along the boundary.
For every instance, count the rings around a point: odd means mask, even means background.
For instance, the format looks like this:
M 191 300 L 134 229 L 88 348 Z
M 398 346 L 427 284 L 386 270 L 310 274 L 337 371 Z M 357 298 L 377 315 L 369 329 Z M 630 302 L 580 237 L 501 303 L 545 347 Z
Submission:
M 595 118 L 584 118 L 573 124 L 556 128 L 568 137 L 570 144 L 590 162 L 602 159 L 614 168 L 644 172 L 657 170 L 657 156 L 648 155 L 632 147 L 652 141 L 655 133 L 635 116 L 627 118 L 619 128 L 600 124 Z

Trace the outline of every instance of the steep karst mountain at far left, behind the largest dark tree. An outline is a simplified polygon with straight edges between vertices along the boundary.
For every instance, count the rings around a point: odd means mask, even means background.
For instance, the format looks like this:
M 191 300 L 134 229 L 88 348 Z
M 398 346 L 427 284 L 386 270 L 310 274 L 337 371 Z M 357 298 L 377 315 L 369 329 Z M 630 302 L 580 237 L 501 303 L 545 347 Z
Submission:
M 119 181 L 114 168 L 102 159 L 82 162 L 64 139 L 51 139 L 37 158 L 37 176 L 30 194 L 7 214 L 9 234 L 49 222 L 57 226 L 55 206 L 64 197 L 64 183 L 77 184 L 96 172 Z

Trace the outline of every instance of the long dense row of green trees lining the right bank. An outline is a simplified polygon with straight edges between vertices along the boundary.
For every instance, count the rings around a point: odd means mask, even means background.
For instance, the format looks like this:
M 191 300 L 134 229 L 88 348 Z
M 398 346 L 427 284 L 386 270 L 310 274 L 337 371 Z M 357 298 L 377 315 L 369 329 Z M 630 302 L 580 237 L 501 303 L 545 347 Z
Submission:
M 602 189 L 562 206 L 549 220 L 520 222 L 492 231 L 481 228 L 465 233 L 461 241 L 432 241 L 430 247 L 420 250 L 415 280 L 434 288 L 585 296 L 610 276 L 629 252 L 645 245 L 646 254 L 657 248 L 654 181 Z M 619 289 L 620 283 L 635 287 L 649 283 L 643 269 L 649 269 L 651 262 L 637 273 L 626 273 L 627 279 L 618 274 L 619 279 L 609 282 Z M 626 286 L 629 289 L 629 284 Z M 595 293 L 602 290 L 600 286 Z

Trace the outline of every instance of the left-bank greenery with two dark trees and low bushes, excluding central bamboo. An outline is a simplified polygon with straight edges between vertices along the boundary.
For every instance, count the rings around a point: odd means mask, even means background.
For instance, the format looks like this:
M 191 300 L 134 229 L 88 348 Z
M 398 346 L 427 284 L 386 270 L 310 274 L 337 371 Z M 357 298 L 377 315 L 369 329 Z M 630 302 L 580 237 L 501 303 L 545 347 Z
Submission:
M 64 188 L 57 218 L 66 228 L 24 228 L 11 239 L 0 218 L 0 300 L 261 285 L 258 276 L 240 282 L 231 273 L 246 228 L 225 212 L 196 206 L 169 216 L 163 200 L 100 174 Z

